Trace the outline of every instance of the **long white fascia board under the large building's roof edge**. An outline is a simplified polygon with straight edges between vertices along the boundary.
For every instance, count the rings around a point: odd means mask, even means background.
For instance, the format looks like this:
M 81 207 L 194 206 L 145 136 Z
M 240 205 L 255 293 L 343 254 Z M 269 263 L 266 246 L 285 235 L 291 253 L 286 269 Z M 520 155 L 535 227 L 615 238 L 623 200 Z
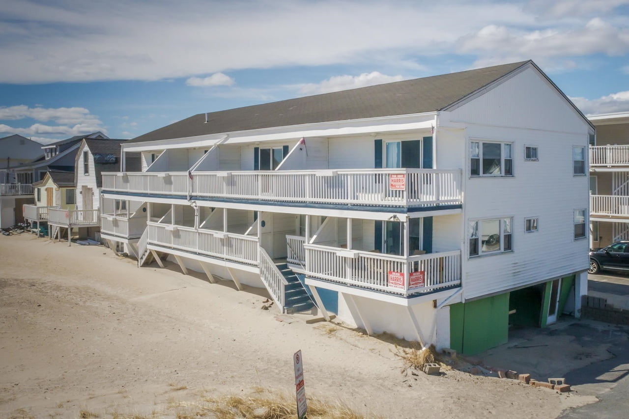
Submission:
M 171 138 L 168 140 L 122 144 L 125 152 L 143 152 L 162 148 L 210 147 L 226 135 L 225 144 L 252 143 L 277 140 L 299 140 L 301 137 L 335 137 L 377 133 L 382 135 L 395 131 L 421 130 L 431 128 L 435 123 L 436 112 L 414 113 L 409 115 L 365 118 L 362 120 L 331 121 L 304 125 L 277 126 L 260 130 L 234 131 L 197 137 Z

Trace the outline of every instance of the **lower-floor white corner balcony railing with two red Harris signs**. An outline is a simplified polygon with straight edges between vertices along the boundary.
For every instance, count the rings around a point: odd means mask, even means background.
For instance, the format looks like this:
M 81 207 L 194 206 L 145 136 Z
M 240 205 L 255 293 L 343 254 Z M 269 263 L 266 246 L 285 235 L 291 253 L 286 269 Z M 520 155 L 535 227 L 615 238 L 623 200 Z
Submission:
M 461 282 L 461 252 L 396 256 L 306 244 L 308 276 L 410 296 Z

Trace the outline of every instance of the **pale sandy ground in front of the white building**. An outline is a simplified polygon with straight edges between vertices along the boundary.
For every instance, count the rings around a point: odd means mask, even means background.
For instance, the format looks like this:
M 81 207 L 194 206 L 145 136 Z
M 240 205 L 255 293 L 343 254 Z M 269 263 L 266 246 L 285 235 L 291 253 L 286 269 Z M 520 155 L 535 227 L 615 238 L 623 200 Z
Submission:
M 291 394 L 298 349 L 308 396 L 367 416 L 554 418 L 593 401 L 456 369 L 404 376 L 386 340 L 277 321 L 264 299 L 104 247 L 0 236 L 0 416 L 175 417 L 174 401 L 201 393 Z

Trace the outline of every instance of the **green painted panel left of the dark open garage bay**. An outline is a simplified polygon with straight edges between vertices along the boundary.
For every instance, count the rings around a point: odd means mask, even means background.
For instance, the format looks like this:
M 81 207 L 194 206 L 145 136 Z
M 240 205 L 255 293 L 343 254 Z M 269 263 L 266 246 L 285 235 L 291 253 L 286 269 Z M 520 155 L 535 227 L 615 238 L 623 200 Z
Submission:
M 465 355 L 506 344 L 509 293 L 450 306 L 450 346 Z

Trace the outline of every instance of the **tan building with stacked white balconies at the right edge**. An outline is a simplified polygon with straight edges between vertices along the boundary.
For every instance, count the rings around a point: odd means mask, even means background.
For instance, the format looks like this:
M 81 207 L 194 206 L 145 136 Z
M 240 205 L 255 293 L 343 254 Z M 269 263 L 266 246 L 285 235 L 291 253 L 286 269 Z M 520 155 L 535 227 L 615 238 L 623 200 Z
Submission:
M 591 247 L 629 240 L 629 112 L 590 116 Z

